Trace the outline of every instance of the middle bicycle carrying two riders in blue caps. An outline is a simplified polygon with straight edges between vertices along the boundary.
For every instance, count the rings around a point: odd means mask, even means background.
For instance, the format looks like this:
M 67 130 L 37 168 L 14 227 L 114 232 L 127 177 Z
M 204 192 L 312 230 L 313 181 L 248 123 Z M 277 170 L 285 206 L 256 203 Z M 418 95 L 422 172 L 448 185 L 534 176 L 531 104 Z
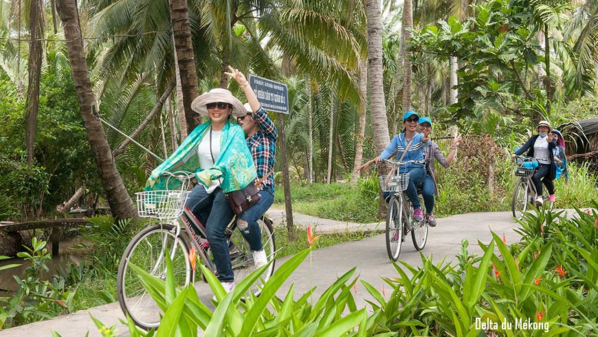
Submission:
M 419 162 L 414 160 L 407 162 L 384 161 L 395 166 L 412 163 L 419 164 Z M 379 182 L 382 192 L 390 194 L 388 212 L 386 213 L 386 252 L 392 261 L 397 261 L 399 254 L 401 254 L 402 243 L 409 232 L 411 232 L 411 239 L 415 249 L 423 250 L 425 243 L 428 241 L 428 218 L 423 217 L 421 221 L 415 221 L 411 202 L 404 195 L 404 191 L 409 184 L 409 173 L 381 175 Z

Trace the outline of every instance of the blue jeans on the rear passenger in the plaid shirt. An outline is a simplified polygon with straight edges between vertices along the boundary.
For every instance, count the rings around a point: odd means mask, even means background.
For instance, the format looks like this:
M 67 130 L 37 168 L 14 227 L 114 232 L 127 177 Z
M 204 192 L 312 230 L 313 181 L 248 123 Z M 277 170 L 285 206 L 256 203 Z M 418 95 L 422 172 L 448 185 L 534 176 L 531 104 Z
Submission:
M 274 202 L 274 193 L 272 188 L 266 186 L 263 191 L 260 191 L 260 201 L 247 208 L 245 213 L 236 217 L 236 226 L 239 227 L 239 231 L 250 244 L 252 250 L 262 250 L 262 233 L 260 226 L 258 225 L 258 219 L 266 213 L 266 210 L 272 206 Z

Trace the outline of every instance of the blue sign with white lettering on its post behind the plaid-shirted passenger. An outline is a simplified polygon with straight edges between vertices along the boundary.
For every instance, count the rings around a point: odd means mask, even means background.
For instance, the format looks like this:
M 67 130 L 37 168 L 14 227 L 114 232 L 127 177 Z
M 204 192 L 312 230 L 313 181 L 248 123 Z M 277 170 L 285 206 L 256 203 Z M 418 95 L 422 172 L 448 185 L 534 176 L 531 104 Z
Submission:
M 287 231 L 289 240 L 295 241 L 295 225 L 293 223 L 293 207 L 291 206 L 291 182 L 289 179 L 289 165 L 287 163 L 287 137 L 285 135 L 284 114 L 289 114 L 289 94 L 287 85 L 267 78 L 249 76 L 250 87 L 256 93 L 258 102 L 266 111 L 278 113 L 278 142 L 280 149 L 280 166 L 283 171 L 283 188 L 285 190 L 285 210 L 287 213 Z

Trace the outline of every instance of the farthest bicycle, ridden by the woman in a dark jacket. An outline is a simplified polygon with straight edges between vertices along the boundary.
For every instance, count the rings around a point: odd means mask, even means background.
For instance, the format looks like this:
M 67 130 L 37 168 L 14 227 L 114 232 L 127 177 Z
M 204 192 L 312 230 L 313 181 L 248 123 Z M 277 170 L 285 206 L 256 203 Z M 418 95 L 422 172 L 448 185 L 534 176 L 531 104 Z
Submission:
M 524 213 L 527 211 L 528 204 L 534 204 L 535 199 L 538 197 L 538 192 L 535 190 L 533 180 L 531 180 L 538 167 L 538 158 L 520 155 L 516 158 L 520 161 L 516 163 L 515 175 L 520 180 L 513 190 L 511 213 L 513 213 L 513 217 L 516 219 L 522 219 Z M 546 202 L 549 200 L 549 197 L 544 197 L 543 199 Z M 549 209 L 553 210 L 554 202 L 548 202 L 548 204 L 550 204 Z M 546 204 L 543 203 L 542 205 Z M 539 209 L 538 206 L 536 207 Z

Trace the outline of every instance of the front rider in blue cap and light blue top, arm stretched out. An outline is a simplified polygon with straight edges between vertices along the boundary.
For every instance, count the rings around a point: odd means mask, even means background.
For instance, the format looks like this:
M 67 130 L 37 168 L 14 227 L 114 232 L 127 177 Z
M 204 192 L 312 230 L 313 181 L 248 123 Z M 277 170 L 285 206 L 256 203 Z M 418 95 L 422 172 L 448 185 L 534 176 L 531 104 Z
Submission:
M 415 186 L 420 186 L 425 178 L 423 149 L 430 144 L 430 131 L 419 133 L 417 131 L 418 121 L 419 116 L 415 111 L 407 111 L 403 115 L 403 133 L 395 135 L 395 138 L 392 138 L 386 149 L 379 156 L 359 167 L 359 171 L 364 171 L 373 162 L 381 162 L 395 153 L 397 153 L 397 160 L 401 160 L 401 162 L 416 161 L 417 163 L 399 166 L 399 173 L 409 173 L 409 185 L 405 193 L 413 205 L 415 221 L 422 221 L 423 212 L 421 211 L 421 204 Z M 402 159 L 400 159 L 401 157 Z

